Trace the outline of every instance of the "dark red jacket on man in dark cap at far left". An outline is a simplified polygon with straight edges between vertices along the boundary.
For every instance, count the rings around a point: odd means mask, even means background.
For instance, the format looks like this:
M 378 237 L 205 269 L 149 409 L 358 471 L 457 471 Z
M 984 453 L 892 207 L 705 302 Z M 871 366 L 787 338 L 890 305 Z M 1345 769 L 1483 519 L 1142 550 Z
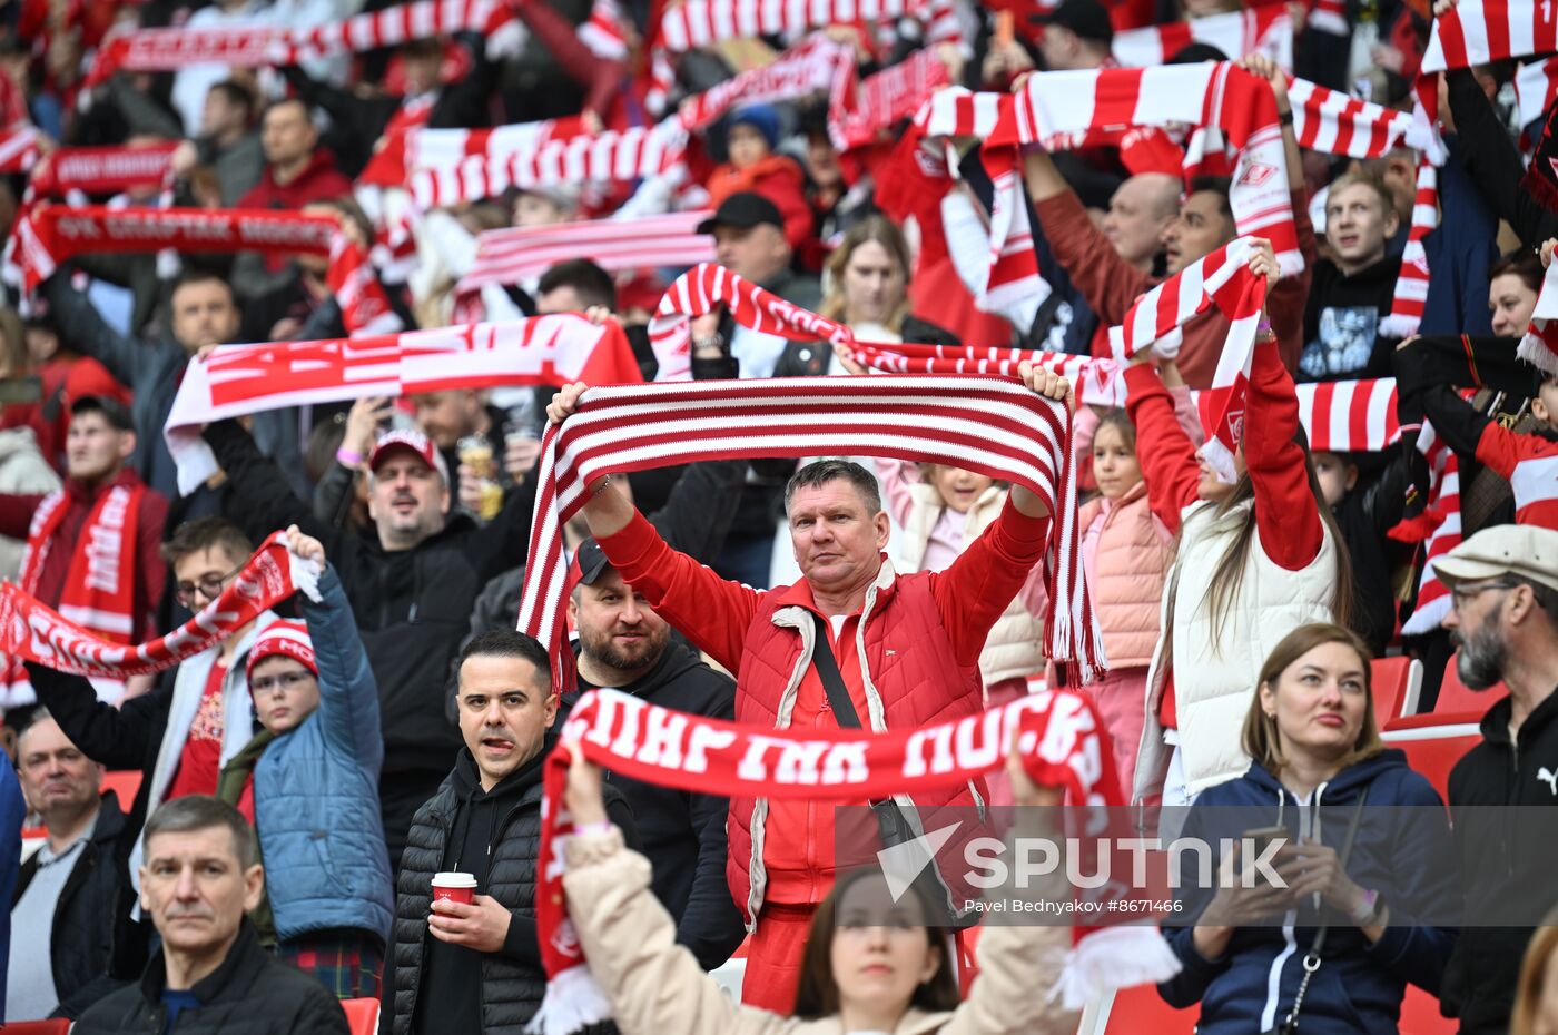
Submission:
M 44 556 L 44 567 L 37 574 L 37 599 L 48 606 L 59 605 L 59 594 L 65 588 L 65 574 L 70 569 L 70 558 L 76 552 L 81 532 L 92 516 L 92 508 L 98 497 L 115 485 L 140 485 L 140 475 L 125 468 L 112 480 L 98 486 L 89 486 L 78 479 L 65 479 L 65 516 L 55 533 L 56 542 Z M 0 493 L 0 535 L 14 539 L 26 539 L 28 527 L 33 524 L 33 511 L 44 502 L 42 494 L 11 494 Z M 162 527 L 168 521 L 168 500 L 154 489 L 146 489 L 140 497 L 140 513 L 136 516 L 136 602 L 132 614 L 139 625 L 134 631 L 137 644 L 151 639 L 156 630 L 151 627 L 151 613 L 162 600 L 162 588 L 167 583 L 167 564 L 162 561 L 159 546 L 162 544 Z

